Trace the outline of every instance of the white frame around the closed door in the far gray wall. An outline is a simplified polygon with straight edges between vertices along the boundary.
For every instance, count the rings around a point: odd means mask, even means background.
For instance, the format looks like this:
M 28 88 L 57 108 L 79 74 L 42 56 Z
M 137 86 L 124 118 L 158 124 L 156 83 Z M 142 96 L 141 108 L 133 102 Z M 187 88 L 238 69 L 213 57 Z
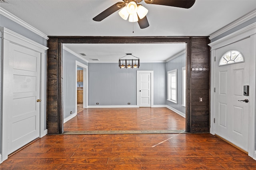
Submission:
M 150 73 L 150 107 L 153 107 L 154 105 L 154 71 L 153 70 L 137 70 L 137 107 L 140 107 L 140 93 L 139 93 L 139 87 L 140 87 L 140 73 Z

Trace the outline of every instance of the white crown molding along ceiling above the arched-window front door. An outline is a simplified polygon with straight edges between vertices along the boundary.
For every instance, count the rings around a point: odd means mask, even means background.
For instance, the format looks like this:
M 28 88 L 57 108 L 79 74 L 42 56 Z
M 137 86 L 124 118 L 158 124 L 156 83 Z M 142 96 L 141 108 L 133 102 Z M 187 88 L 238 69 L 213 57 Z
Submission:
M 214 33 L 210 34 L 209 36 L 209 39 L 213 39 L 219 35 L 221 35 L 222 33 L 225 33 L 226 31 L 229 31 L 230 29 L 252 19 L 256 17 L 256 10 L 252 11 L 252 12 L 249 12 L 248 14 L 246 14 L 245 16 L 235 20 L 234 22 L 222 27 L 221 29 L 219 29 L 218 31 L 215 31 Z

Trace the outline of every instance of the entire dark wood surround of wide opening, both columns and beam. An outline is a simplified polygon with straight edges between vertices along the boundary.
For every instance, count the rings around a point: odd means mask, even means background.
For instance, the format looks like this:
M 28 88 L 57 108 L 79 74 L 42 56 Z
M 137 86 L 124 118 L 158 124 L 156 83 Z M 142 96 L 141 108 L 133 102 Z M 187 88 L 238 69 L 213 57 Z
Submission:
M 47 128 L 63 129 L 62 43 L 186 43 L 186 131 L 209 132 L 210 47 L 208 37 L 50 37 L 48 40 Z M 202 97 L 202 102 L 199 98 Z

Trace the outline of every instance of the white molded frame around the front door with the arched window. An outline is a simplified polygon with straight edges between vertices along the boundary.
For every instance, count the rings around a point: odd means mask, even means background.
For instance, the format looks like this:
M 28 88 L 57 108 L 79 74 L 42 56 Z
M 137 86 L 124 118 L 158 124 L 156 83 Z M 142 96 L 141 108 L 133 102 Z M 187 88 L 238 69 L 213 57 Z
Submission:
M 218 65 L 218 61 L 214 61 L 214 57 L 216 57 L 216 49 L 219 49 L 221 47 L 224 47 L 226 45 L 230 45 L 232 43 L 235 43 L 237 41 L 240 41 L 246 37 L 250 38 L 250 95 L 249 95 L 249 102 L 251 102 L 249 107 L 249 120 L 248 120 L 248 155 L 256 160 L 256 150 L 255 150 L 255 143 L 256 143 L 256 107 L 255 107 L 255 87 L 256 87 L 256 23 L 253 23 L 251 25 L 248 25 L 247 27 L 244 27 L 234 33 L 231 33 L 230 35 L 227 35 L 221 39 L 218 39 L 212 43 L 210 43 L 210 47 L 212 47 L 211 51 L 211 100 L 210 100 L 210 133 L 215 135 L 215 124 L 214 124 L 214 118 L 215 118 L 215 108 L 216 108 L 216 95 L 214 92 L 215 88 L 215 67 Z M 246 60 L 246 58 L 245 58 Z M 253 135 L 250 135 L 253 134 Z

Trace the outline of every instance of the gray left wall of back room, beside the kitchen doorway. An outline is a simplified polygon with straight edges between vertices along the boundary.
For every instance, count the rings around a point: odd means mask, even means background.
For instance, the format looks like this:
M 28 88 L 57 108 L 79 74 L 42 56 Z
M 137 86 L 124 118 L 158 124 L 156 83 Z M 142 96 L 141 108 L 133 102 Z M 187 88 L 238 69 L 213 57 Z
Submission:
M 63 50 L 63 111 L 64 119 L 76 111 L 76 61 L 88 65 L 82 59 Z

